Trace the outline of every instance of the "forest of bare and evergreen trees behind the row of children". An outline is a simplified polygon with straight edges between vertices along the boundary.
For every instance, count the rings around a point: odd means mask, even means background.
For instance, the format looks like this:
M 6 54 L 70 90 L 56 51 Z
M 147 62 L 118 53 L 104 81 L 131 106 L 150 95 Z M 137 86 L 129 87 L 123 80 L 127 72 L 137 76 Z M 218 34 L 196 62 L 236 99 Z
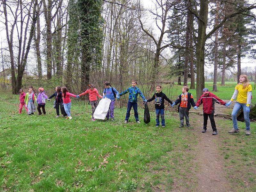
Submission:
M 149 96 L 158 83 L 189 80 L 199 97 L 207 80 L 213 91 L 240 74 L 256 82 L 256 67 L 241 66 L 255 58 L 255 1 L 143 3 L 1 0 L 2 87 L 18 94 L 61 85 L 79 93 L 109 81 L 123 91 L 136 79 Z

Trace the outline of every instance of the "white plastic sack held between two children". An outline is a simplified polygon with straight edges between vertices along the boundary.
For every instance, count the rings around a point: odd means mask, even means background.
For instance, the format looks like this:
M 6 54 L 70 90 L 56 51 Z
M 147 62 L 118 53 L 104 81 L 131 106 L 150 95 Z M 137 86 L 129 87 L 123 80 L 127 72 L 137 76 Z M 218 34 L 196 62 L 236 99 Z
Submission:
M 106 97 L 104 99 L 101 99 L 97 108 L 93 113 L 93 117 L 95 119 L 105 119 L 108 113 L 110 103 L 111 103 L 111 100 Z

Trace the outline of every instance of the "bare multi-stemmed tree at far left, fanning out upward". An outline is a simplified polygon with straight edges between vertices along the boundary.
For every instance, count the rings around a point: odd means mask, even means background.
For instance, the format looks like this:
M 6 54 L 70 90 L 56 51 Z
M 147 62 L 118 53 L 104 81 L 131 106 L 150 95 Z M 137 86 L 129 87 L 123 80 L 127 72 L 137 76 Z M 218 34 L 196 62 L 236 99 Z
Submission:
M 11 70 L 12 70 L 12 93 L 18 94 L 19 90 L 21 88 L 22 84 L 22 77 L 25 70 L 25 67 L 27 65 L 27 59 L 28 59 L 28 53 L 30 50 L 30 44 L 34 35 L 35 30 L 35 24 L 36 24 L 36 18 L 37 18 L 37 1 L 23 4 L 24 2 L 21 2 L 18 0 L 18 2 L 15 2 L 14 4 L 10 3 L 7 4 L 6 0 L 2 0 L 2 5 L 4 9 L 4 19 L 5 19 L 5 28 L 6 28 L 6 38 L 9 46 L 9 52 L 10 52 L 10 58 L 11 58 Z M 15 12 L 13 12 L 12 8 L 15 8 Z M 8 13 L 7 9 L 12 14 L 12 21 L 8 20 Z M 25 10 L 24 10 L 25 9 Z M 31 9 L 33 9 L 33 13 L 31 13 Z M 20 12 L 20 15 L 18 15 L 18 12 Z M 23 13 L 26 12 L 25 16 L 23 17 Z M 31 20 L 32 18 L 32 20 Z M 20 29 L 18 30 L 18 19 L 20 19 Z M 11 24 L 11 34 L 9 35 L 9 22 L 12 22 Z M 28 32 L 29 25 L 31 24 L 31 29 Z M 18 54 L 14 56 L 14 43 L 13 43 L 13 35 L 14 35 L 14 29 L 17 28 L 16 33 L 18 33 Z M 23 32 L 24 30 L 24 32 Z M 28 36 L 29 33 L 29 36 Z M 28 36 L 28 41 L 27 41 Z M 14 57 L 17 58 L 17 78 L 15 74 L 15 60 Z

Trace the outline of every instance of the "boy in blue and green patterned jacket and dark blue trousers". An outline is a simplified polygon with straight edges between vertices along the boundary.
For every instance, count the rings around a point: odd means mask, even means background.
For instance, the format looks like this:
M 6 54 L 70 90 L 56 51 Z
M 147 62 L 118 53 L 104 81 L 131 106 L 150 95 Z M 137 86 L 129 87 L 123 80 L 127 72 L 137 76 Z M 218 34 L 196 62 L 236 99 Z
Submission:
M 147 102 L 145 99 L 143 93 L 140 91 L 138 87 L 136 87 L 137 82 L 132 80 L 132 87 L 129 87 L 125 91 L 121 92 L 119 95 L 116 95 L 116 98 L 119 99 L 120 96 L 126 94 L 129 92 L 129 100 L 128 100 L 128 105 L 127 105 L 127 112 L 125 116 L 125 121 L 124 123 L 127 123 L 130 117 L 130 111 L 133 108 L 134 110 L 134 117 L 136 119 L 136 123 L 140 123 L 139 121 L 139 114 L 138 114 L 138 105 L 137 105 L 137 100 L 138 100 L 138 94 L 140 94 L 140 97 Z

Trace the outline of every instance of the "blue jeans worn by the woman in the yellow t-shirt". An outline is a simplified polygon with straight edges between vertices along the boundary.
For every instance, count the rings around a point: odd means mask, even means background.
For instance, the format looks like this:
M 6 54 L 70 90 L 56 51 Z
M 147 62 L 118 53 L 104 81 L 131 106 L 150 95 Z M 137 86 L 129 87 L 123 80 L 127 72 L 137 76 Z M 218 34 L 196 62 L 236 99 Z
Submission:
M 243 108 L 243 111 L 244 111 L 244 121 L 245 121 L 245 125 L 246 125 L 246 130 L 250 130 L 249 113 L 245 111 L 246 103 L 238 103 L 238 102 L 235 103 L 235 106 L 234 106 L 232 114 L 231 114 L 232 120 L 233 120 L 233 127 L 236 130 L 238 129 L 236 115 L 241 108 Z

